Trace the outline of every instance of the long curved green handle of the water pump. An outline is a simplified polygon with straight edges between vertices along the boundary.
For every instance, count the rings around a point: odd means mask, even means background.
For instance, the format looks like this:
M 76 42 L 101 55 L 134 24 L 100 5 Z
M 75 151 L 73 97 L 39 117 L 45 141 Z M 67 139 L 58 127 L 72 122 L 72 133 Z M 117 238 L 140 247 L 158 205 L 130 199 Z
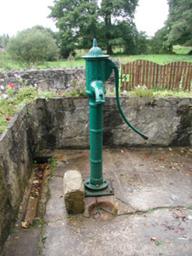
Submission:
M 114 64 L 114 62 L 112 62 L 110 59 L 108 59 L 108 61 L 110 61 L 110 67 L 114 69 L 114 73 L 115 73 L 116 99 L 117 99 L 117 107 L 119 108 L 120 115 L 123 117 L 125 123 L 127 123 L 127 125 L 130 126 L 135 133 L 138 133 L 139 135 L 141 135 L 142 138 L 144 138 L 145 140 L 148 140 L 148 136 L 145 135 L 144 133 L 141 133 L 139 130 L 135 129 L 134 126 L 132 126 L 131 123 L 129 123 L 129 121 L 124 116 L 124 112 L 120 107 L 120 99 L 119 99 L 119 71 L 117 69 L 117 66 Z

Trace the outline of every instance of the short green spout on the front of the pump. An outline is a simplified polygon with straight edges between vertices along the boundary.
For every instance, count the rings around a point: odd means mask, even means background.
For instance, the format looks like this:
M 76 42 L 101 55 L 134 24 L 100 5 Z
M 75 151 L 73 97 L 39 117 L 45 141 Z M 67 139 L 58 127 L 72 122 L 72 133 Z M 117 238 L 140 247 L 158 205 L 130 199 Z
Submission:
M 102 81 L 93 81 L 91 83 L 91 91 L 96 95 L 96 104 L 105 103 L 105 91 L 103 90 Z

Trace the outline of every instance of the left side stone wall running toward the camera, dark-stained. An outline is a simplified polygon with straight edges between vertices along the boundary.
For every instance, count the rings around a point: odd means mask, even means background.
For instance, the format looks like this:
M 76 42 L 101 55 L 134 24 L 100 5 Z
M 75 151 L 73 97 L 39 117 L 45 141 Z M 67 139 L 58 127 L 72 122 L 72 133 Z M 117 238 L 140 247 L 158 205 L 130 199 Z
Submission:
M 33 112 L 27 114 L 27 108 Z M 36 111 L 35 111 L 36 112 Z M 0 135 L 0 251 L 16 221 L 38 148 L 38 119 L 33 104 L 24 106 Z

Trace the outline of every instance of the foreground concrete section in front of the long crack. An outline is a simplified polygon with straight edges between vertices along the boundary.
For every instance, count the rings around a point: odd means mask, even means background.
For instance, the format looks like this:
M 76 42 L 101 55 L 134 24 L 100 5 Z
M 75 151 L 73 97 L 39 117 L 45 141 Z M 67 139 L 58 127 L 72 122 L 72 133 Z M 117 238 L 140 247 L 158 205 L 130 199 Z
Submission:
M 180 221 L 168 209 L 145 215 L 120 215 L 106 222 L 63 219 L 44 228 L 47 239 L 42 255 L 190 256 L 191 224 L 191 220 L 183 222 L 186 235 L 183 234 L 178 227 Z

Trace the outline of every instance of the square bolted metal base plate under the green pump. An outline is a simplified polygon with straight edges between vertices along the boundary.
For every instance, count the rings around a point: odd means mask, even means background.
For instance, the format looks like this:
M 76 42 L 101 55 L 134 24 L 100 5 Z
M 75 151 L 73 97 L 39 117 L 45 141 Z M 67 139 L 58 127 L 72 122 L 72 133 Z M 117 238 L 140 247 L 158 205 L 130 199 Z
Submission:
M 89 189 L 89 187 L 87 187 L 87 185 L 86 185 L 88 180 L 84 181 L 85 197 L 101 197 L 101 196 L 113 195 L 114 194 L 113 187 L 111 186 L 110 181 L 109 180 L 105 180 L 105 179 L 103 179 L 103 180 L 106 181 L 106 183 L 103 183 L 103 184 L 105 184 L 107 186 L 102 188 L 102 190 Z

